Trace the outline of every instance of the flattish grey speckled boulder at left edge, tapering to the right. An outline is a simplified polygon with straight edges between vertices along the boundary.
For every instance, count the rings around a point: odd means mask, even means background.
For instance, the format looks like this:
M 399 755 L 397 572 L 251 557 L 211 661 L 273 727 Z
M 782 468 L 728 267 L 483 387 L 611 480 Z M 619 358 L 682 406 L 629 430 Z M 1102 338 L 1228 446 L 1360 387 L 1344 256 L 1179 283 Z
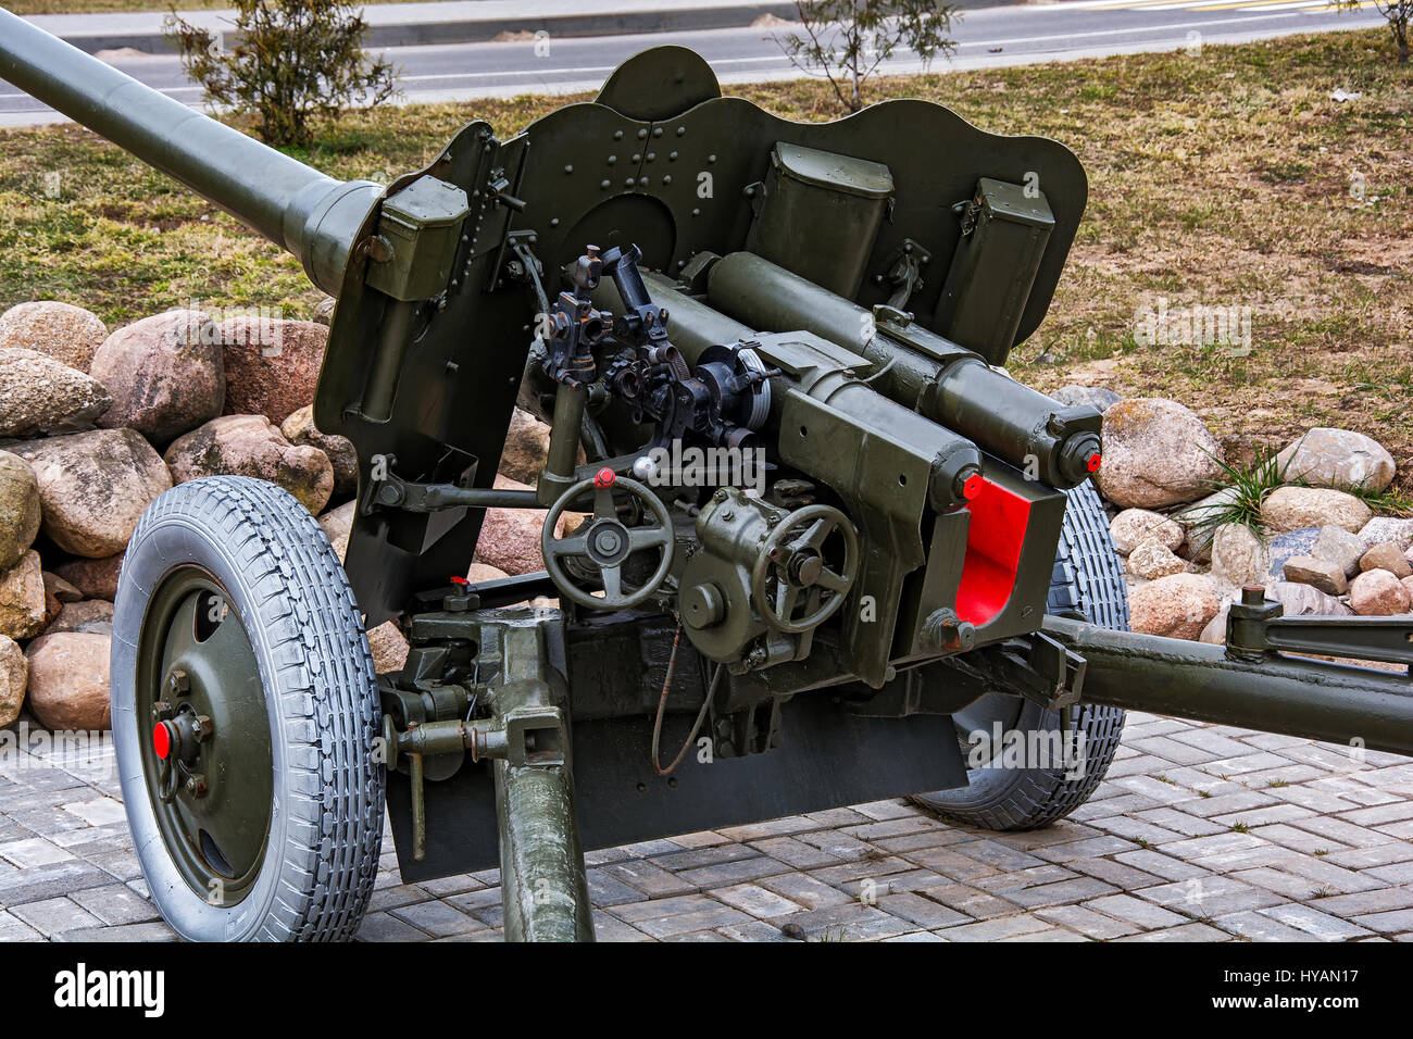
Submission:
M 112 403 L 93 376 L 35 351 L 0 346 L 0 437 L 82 430 Z

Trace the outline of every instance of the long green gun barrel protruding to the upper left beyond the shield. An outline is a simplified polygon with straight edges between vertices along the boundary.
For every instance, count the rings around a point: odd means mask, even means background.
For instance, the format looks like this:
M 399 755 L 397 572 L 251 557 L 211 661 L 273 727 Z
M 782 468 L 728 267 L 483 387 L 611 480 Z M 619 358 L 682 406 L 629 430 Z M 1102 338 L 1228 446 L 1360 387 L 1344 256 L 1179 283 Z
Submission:
M 336 181 L 0 10 L 0 79 L 181 181 L 287 249 L 338 295 L 383 189 Z

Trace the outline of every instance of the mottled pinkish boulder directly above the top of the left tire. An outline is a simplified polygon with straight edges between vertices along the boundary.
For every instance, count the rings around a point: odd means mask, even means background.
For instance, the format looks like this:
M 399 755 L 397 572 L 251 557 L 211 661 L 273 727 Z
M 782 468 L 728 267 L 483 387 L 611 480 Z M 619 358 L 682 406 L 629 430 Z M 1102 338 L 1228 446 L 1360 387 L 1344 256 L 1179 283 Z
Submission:
M 264 416 L 212 418 L 178 437 L 164 455 L 172 479 L 254 476 L 277 483 L 318 515 L 333 493 L 333 465 L 317 447 L 295 447 Z

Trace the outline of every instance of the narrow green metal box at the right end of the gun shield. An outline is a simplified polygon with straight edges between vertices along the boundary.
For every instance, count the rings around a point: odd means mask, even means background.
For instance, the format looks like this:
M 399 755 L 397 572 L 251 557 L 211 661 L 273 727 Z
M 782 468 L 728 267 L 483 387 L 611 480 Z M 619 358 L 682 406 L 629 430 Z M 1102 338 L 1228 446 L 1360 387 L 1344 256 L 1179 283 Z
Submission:
M 937 301 L 934 327 L 948 339 L 1006 363 L 1056 218 L 1039 189 L 983 177 L 957 206 L 962 236 Z

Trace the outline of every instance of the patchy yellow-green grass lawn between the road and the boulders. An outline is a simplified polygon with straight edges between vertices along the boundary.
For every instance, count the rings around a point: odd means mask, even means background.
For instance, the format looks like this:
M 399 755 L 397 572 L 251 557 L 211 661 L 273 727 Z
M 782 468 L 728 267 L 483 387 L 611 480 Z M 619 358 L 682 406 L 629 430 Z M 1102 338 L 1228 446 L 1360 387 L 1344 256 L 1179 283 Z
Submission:
M 1366 433 L 1413 492 L 1413 68 L 1385 31 L 887 79 L 988 130 L 1037 133 L 1089 171 L 1089 211 L 1050 317 L 1013 373 L 1167 396 L 1218 435 Z M 1362 98 L 1334 102 L 1344 88 Z M 812 81 L 735 88 L 832 116 Z M 471 116 L 510 134 L 564 99 L 357 113 L 301 158 L 336 177 L 420 167 Z M 58 182 L 47 174 L 58 171 Z M 1362 184 L 1362 199 L 1351 192 Z M 58 187 L 58 196 L 51 196 Z M 0 133 L 0 307 L 58 298 L 120 324 L 188 300 L 318 301 L 297 264 L 191 192 L 75 127 Z M 1135 314 L 1249 307 L 1252 351 L 1143 346 Z

